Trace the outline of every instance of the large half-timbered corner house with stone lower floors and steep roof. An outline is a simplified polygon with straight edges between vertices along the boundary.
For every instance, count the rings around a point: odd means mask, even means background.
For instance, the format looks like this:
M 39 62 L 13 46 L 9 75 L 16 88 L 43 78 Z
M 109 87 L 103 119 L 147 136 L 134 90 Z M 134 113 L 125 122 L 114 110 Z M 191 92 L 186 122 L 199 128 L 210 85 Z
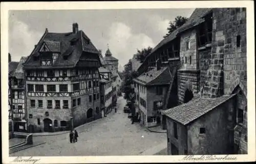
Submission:
M 30 132 L 69 130 L 101 118 L 99 52 L 73 24 L 68 33 L 46 29 L 24 63 Z

